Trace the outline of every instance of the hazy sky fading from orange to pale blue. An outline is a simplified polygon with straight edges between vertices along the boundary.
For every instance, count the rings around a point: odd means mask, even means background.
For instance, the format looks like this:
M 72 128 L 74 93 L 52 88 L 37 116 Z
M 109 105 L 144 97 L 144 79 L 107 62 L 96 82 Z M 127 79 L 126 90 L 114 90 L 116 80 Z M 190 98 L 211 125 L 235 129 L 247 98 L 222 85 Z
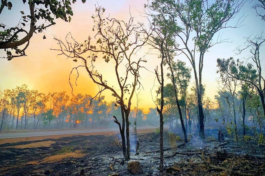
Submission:
M 28 13 L 27 4 L 23 4 L 22 1 L 11 0 L 13 7 L 9 11 L 7 8 L 3 9 L 0 15 L 0 23 L 8 24 L 8 26 L 15 26 L 18 24 L 21 13 Z M 260 17 L 256 16 L 255 9 L 252 9 L 252 2 L 246 2 L 245 6 L 241 9 L 240 13 L 231 20 L 231 25 L 235 24 L 240 17 L 244 19 L 241 23 L 240 28 L 227 28 L 220 32 L 222 39 L 228 39 L 226 43 L 220 43 L 209 49 L 204 56 L 204 68 L 202 83 L 206 85 L 206 96 L 214 99 L 214 95 L 218 90 L 218 84 L 216 78 L 219 75 L 216 73 L 217 70 L 217 58 L 239 58 L 246 62 L 244 58 L 248 58 L 250 53 L 245 51 L 240 55 L 235 54 L 235 49 L 243 45 L 245 42 L 243 37 L 250 35 L 257 35 L 264 30 L 265 21 L 261 20 Z M 129 9 L 131 15 L 135 18 L 135 21 L 147 22 L 146 18 L 143 17 L 144 12 L 143 0 L 116 0 L 116 1 L 94 1 L 87 0 L 85 4 L 81 3 L 81 0 L 77 0 L 72 5 L 73 17 L 71 22 L 65 22 L 61 19 L 56 19 L 56 24 L 47 28 L 44 33 L 34 34 L 30 39 L 30 45 L 26 49 L 26 57 L 14 58 L 11 61 L 0 58 L 0 87 L 15 88 L 22 84 L 27 84 L 31 90 L 38 90 L 39 92 L 48 94 L 49 92 L 61 92 L 66 91 L 69 95 L 71 94 L 71 87 L 69 85 L 69 74 L 74 66 L 79 63 L 73 62 L 72 59 L 66 59 L 63 56 L 59 56 L 58 51 L 52 51 L 51 48 L 58 48 L 56 41 L 53 39 L 56 36 L 59 39 L 64 39 L 68 32 L 71 32 L 72 36 L 78 41 L 83 42 L 89 36 L 93 35 L 93 19 L 92 14 L 95 14 L 95 4 L 102 6 L 106 9 L 105 14 L 109 14 L 110 17 L 115 17 L 120 20 L 129 19 Z M 147 24 L 146 24 L 147 25 Z M 46 39 L 43 39 L 45 35 Z M 216 37 L 214 38 L 216 39 Z M 142 49 L 140 55 L 144 56 L 147 60 L 147 69 L 142 70 L 141 80 L 142 87 L 136 91 L 138 99 L 140 100 L 139 107 L 147 110 L 149 107 L 155 108 L 156 105 L 153 102 L 155 99 L 155 90 L 158 88 L 158 82 L 154 74 L 154 69 L 160 64 L 159 59 L 155 54 L 146 53 L 147 49 Z M 264 49 L 261 51 L 261 57 L 264 58 Z M 0 57 L 4 55 L 4 51 L 0 50 Z M 139 55 L 139 56 L 140 56 Z M 142 57 L 140 56 L 140 57 Z M 137 55 L 138 57 L 138 55 Z M 175 59 L 182 60 L 187 63 L 187 66 L 191 66 L 188 59 L 183 56 L 177 56 Z M 265 66 L 264 60 L 262 65 Z M 106 79 L 110 80 L 113 70 L 112 66 L 102 64 L 99 68 L 103 70 L 106 75 Z M 98 92 L 98 86 L 94 84 L 85 70 L 80 71 L 80 77 L 77 80 L 77 86 L 73 86 L 73 94 L 90 94 L 95 96 Z M 192 74 L 193 77 L 193 74 Z M 74 77 L 71 77 L 70 82 L 74 84 Z M 191 80 L 191 85 L 194 79 Z M 107 101 L 115 100 L 111 96 L 110 92 L 105 92 L 105 99 Z M 132 106 L 136 106 L 136 96 L 132 101 Z M 214 101 L 214 100 L 213 100 Z

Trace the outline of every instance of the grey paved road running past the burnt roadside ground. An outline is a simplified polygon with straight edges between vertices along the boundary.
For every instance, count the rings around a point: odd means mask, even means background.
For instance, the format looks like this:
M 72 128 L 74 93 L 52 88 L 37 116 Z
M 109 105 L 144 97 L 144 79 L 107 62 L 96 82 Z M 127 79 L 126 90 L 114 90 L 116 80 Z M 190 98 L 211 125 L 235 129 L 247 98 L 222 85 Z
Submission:
M 152 129 L 154 127 L 143 127 L 139 129 Z M 28 132 L 28 133 L 1 133 L 0 139 L 17 138 L 17 137 L 35 137 L 35 136 L 51 136 L 62 134 L 79 134 L 79 133 L 96 133 L 107 131 L 119 131 L 117 128 L 109 129 L 85 129 L 85 130 L 66 130 L 66 131 L 45 131 L 45 132 Z

